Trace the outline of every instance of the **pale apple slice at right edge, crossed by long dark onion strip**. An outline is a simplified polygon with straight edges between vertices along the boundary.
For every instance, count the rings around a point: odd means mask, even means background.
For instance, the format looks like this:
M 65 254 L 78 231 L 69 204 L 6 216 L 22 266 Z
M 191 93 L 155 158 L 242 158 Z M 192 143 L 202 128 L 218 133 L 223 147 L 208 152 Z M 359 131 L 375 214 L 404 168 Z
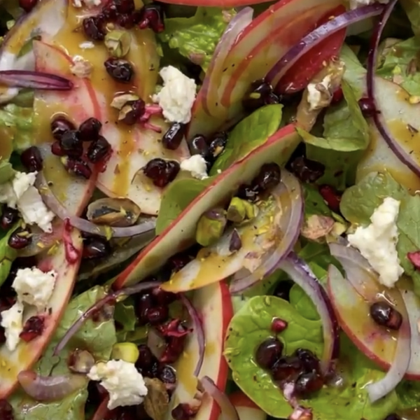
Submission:
M 409 153 L 411 159 L 419 165 L 420 104 L 410 104 L 409 94 L 402 87 L 384 78 L 375 77 L 377 105 L 381 116 L 386 121 L 388 130 L 398 144 Z M 388 171 L 396 181 L 414 193 L 420 190 L 420 178 L 402 162 L 381 137 L 374 123 L 370 122 L 372 141 L 360 161 L 357 178 L 361 179 L 370 172 Z

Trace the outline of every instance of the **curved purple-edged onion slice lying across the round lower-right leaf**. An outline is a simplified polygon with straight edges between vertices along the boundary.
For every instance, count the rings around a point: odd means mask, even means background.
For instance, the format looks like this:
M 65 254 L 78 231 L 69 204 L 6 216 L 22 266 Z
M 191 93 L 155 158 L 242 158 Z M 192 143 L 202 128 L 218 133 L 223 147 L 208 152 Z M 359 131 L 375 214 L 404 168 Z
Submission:
M 295 253 L 290 253 L 278 268 L 286 272 L 290 279 L 297 283 L 314 302 L 323 325 L 324 349 L 321 365 L 323 372 L 328 372 L 332 360 L 339 354 L 339 328 L 330 298 L 306 262 Z

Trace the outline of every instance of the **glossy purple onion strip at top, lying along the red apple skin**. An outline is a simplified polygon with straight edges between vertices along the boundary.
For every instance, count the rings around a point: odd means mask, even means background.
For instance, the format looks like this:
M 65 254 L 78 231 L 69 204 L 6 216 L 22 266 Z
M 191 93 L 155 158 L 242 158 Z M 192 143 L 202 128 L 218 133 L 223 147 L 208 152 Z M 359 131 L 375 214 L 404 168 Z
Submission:
M 286 52 L 281 59 L 279 59 L 272 69 L 267 74 L 267 81 L 276 86 L 288 69 L 290 69 L 295 62 L 297 62 L 302 55 L 314 48 L 318 43 L 321 43 L 328 36 L 335 34 L 341 29 L 349 27 L 353 23 L 360 22 L 372 16 L 379 15 L 384 10 L 385 5 L 381 3 L 373 3 L 368 6 L 362 6 L 355 10 L 349 10 L 342 15 L 338 15 L 334 19 L 329 20 L 320 27 L 311 31 L 310 34 L 304 36 L 302 41 L 294 45 L 288 52 Z

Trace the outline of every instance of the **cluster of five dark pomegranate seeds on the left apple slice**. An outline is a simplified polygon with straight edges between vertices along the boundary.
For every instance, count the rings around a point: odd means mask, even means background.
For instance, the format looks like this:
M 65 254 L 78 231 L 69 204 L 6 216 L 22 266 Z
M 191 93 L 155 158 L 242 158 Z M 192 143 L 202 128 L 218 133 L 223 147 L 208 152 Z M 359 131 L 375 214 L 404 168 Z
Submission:
M 90 179 L 92 169 L 88 164 L 106 162 L 111 155 L 111 145 L 100 132 L 102 123 L 96 118 L 88 118 L 76 129 L 71 121 L 59 116 L 51 122 L 51 146 L 54 155 L 62 157 L 62 164 L 67 172 Z M 90 142 L 85 153 L 84 143 Z

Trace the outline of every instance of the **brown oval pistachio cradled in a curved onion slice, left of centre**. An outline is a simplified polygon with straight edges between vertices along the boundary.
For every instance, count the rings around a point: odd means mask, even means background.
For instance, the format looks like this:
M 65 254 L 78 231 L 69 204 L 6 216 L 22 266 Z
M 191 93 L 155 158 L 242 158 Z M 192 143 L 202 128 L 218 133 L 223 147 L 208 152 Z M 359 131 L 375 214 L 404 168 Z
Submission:
M 87 219 L 98 225 L 132 226 L 141 209 L 127 198 L 100 198 L 87 207 Z

